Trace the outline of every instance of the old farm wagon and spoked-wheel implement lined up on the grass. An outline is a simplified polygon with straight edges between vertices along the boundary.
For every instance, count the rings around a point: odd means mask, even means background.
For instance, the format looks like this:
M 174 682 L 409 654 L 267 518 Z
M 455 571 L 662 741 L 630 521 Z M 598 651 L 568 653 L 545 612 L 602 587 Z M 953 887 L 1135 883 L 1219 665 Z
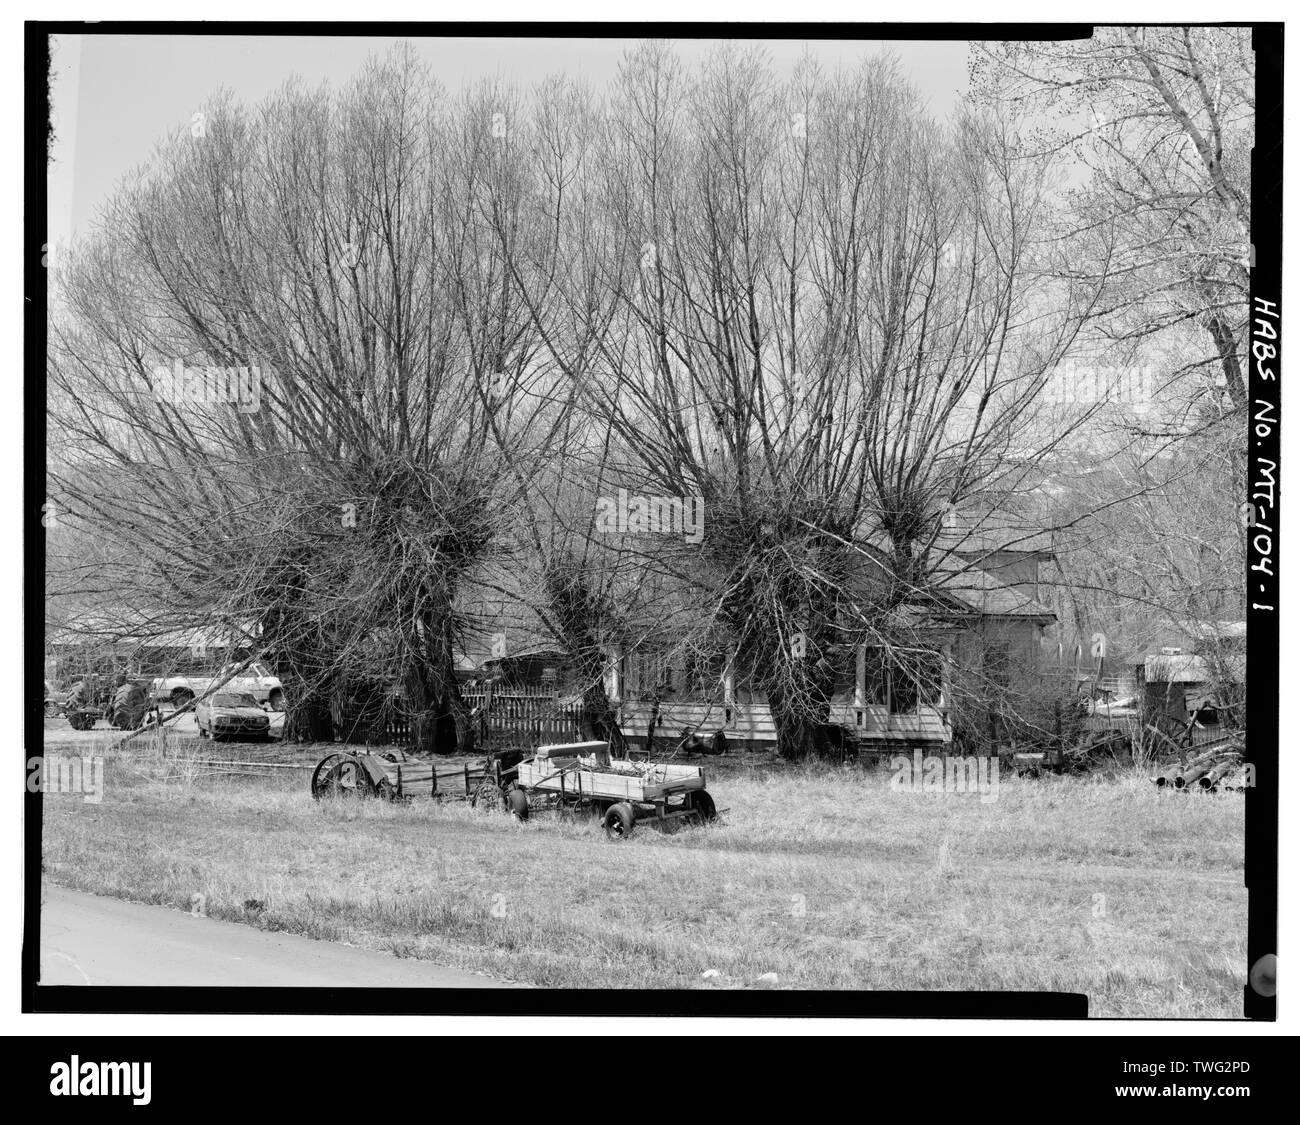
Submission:
M 611 761 L 608 743 L 562 743 L 493 754 L 456 770 L 438 771 L 399 750 L 335 752 L 312 773 L 312 796 L 468 801 L 506 809 L 521 821 L 534 813 L 575 809 L 601 817 L 611 840 L 625 840 L 638 822 L 705 825 L 718 817 L 698 766 Z

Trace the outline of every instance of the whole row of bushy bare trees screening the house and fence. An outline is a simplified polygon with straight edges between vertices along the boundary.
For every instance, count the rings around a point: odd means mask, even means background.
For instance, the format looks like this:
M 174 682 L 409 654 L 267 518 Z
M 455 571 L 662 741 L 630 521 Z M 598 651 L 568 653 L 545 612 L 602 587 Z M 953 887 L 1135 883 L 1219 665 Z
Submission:
M 454 96 L 398 48 L 217 99 L 53 282 L 51 497 L 129 561 L 107 601 L 273 655 L 290 736 L 399 683 L 419 745 L 463 745 L 456 652 L 508 620 L 571 654 L 595 734 L 610 652 L 676 646 L 814 752 L 833 650 L 926 658 L 944 512 L 1041 496 L 1086 420 L 1044 386 L 1132 330 L 1117 284 L 1174 299 L 1098 248 L 1153 215 L 1063 238 L 1031 147 L 936 124 L 888 60 L 779 81 L 659 43 L 603 91 Z M 1221 265 L 1187 291 L 1239 342 Z M 176 401 L 177 364 L 256 371 L 256 408 Z M 598 528 L 620 489 L 698 501 L 702 537 Z

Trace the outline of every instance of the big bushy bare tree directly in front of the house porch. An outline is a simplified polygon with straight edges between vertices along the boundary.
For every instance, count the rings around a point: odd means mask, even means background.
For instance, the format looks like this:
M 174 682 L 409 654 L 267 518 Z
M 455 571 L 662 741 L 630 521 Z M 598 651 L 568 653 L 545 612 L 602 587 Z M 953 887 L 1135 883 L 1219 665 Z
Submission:
M 656 566 L 792 757 L 822 744 L 837 645 L 920 655 L 898 610 L 931 592 L 941 512 L 1054 447 L 1039 391 L 1095 295 L 1044 287 L 1044 169 L 996 121 L 914 104 L 889 62 L 783 88 L 755 55 L 688 75 L 647 44 L 593 157 L 604 252 L 547 278 L 597 341 L 545 333 L 623 483 L 702 498 L 702 544 L 662 540 Z

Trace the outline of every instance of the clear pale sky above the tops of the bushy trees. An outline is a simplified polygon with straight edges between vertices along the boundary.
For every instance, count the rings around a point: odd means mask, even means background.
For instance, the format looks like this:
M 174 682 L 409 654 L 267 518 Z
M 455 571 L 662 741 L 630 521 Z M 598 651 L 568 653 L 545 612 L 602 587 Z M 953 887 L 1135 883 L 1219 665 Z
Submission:
M 299 77 L 308 86 L 344 86 L 367 57 L 396 38 L 318 35 L 56 35 L 55 146 L 49 166 L 49 246 L 90 230 L 99 208 L 153 144 L 188 125 L 218 88 L 255 104 Z M 564 72 L 592 85 L 614 77 L 633 39 L 410 39 L 450 90 L 480 78 L 530 86 Z M 675 40 L 685 61 L 716 40 Z M 930 111 L 945 117 L 966 90 L 965 42 L 764 40 L 779 74 L 807 49 L 827 70 L 892 51 Z

